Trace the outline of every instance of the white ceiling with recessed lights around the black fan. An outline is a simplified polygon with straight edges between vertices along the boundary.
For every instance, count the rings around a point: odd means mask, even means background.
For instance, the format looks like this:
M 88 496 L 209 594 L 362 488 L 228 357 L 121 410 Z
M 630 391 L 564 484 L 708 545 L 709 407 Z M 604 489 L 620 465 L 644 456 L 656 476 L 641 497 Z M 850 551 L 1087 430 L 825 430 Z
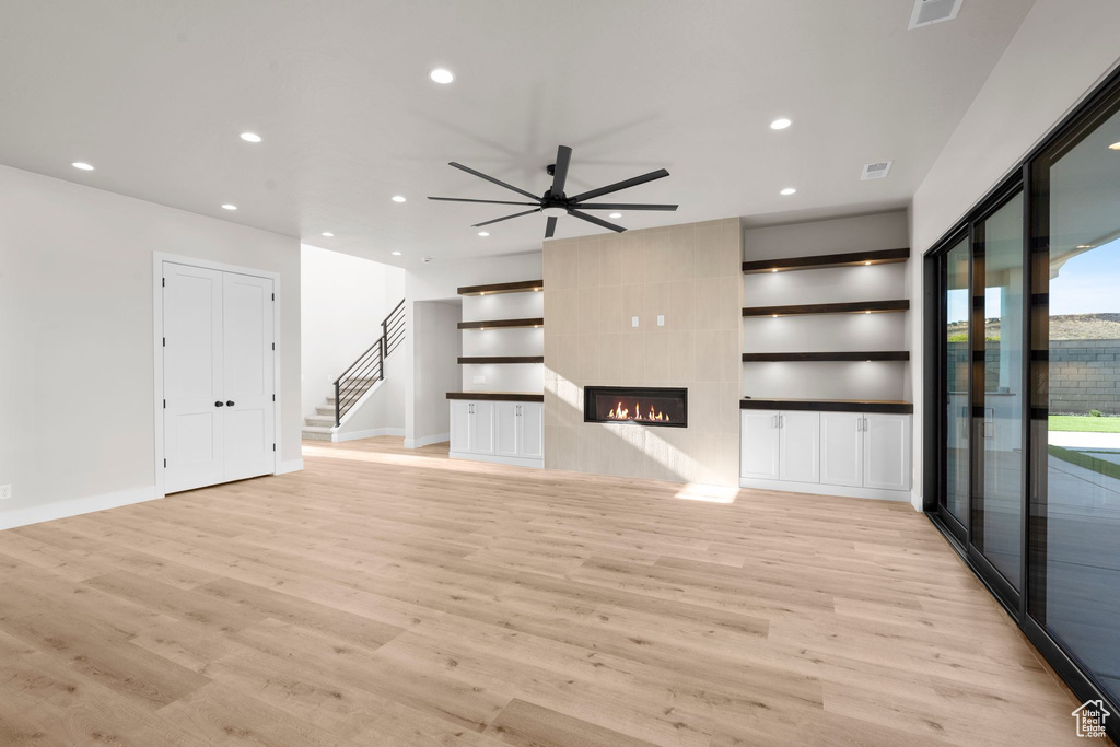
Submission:
M 405 267 L 540 249 L 543 216 L 480 239 L 520 208 L 424 197 L 519 199 L 451 160 L 543 193 L 561 143 L 569 194 L 672 172 L 612 195 L 681 205 L 631 228 L 900 207 L 1032 4 L 907 31 L 911 0 L 0 0 L 0 162 Z

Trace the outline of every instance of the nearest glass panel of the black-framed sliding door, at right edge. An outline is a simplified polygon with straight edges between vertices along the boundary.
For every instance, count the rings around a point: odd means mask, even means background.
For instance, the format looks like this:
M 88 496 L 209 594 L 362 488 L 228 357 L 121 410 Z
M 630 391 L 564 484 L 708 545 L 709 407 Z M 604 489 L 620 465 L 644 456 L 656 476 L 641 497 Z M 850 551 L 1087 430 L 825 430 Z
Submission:
M 1120 95 L 1033 164 L 1027 611 L 1120 700 Z M 1045 419 L 1044 419 L 1045 418 Z

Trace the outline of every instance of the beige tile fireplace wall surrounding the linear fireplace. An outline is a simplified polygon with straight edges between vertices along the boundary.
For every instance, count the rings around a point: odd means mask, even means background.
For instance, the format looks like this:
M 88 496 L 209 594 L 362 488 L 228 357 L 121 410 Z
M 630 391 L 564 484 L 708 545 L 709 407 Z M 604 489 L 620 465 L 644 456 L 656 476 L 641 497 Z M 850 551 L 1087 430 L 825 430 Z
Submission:
M 727 218 L 544 243 L 545 468 L 738 485 L 741 236 Z M 689 426 L 585 423 L 585 385 L 687 386 Z

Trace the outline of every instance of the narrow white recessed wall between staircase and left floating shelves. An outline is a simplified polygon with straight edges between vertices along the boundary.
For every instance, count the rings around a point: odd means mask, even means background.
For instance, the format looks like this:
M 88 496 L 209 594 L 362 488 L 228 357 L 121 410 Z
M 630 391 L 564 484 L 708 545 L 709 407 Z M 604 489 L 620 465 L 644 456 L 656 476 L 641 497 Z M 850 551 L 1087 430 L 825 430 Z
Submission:
M 460 306 L 458 301 L 417 301 L 416 358 L 413 386 L 414 418 L 407 447 L 424 446 L 450 438 L 450 410 L 447 393 L 459 385 L 459 365 L 463 353 L 458 329 Z

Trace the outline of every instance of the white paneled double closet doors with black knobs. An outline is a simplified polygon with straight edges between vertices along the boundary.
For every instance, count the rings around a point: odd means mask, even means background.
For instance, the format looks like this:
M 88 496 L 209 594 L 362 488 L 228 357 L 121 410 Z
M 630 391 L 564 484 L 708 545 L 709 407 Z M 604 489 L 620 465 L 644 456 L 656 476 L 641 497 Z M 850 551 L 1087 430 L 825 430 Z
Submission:
M 276 470 L 272 280 L 164 263 L 165 492 Z

